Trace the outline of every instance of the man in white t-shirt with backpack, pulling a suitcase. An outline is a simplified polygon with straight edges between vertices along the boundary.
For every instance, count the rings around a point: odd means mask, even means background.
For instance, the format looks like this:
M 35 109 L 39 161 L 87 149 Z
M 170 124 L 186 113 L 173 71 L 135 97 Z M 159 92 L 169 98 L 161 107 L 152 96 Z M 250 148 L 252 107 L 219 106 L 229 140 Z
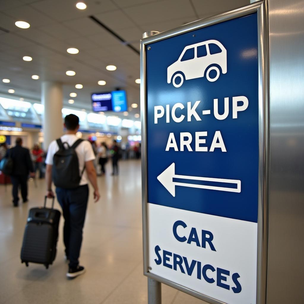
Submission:
M 51 189 L 52 180 L 56 186 L 57 200 L 62 208 L 64 222 L 64 245 L 69 268 L 68 278 L 74 278 L 85 272 L 79 266 L 79 255 L 82 242 L 82 230 L 85 223 L 85 214 L 88 203 L 88 180 L 94 187 L 94 199 L 98 201 L 96 171 L 93 161 L 95 155 L 92 145 L 87 140 L 78 139 L 76 132 L 79 129 L 79 118 L 74 114 L 65 116 L 65 135 L 50 143 L 46 158 L 47 196 L 54 197 Z M 76 157 L 76 162 L 75 162 Z M 69 162 L 71 161 L 71 162 Z M 72 174 L 78 165 L 78 174 Z M 75 183 L 75 178 L 77 183 Z M 60 185 L 60 186 L 59 186 Z

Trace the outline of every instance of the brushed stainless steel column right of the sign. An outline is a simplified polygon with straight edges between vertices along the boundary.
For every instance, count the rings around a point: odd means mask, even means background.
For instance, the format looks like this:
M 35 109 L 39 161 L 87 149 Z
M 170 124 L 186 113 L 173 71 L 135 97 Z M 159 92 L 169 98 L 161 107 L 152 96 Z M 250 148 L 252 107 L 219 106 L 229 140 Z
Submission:
M 267 304 L 304 293 L 304 1 L 269 0 L 270 184 Z

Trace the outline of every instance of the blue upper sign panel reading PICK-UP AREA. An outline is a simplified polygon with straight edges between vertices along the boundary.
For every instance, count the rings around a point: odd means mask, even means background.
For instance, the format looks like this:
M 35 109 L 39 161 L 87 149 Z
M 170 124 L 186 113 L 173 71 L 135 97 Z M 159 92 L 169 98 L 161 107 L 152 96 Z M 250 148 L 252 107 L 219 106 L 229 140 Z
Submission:
M 148 202 L 257 223 L 257 14 L 146 50 Z

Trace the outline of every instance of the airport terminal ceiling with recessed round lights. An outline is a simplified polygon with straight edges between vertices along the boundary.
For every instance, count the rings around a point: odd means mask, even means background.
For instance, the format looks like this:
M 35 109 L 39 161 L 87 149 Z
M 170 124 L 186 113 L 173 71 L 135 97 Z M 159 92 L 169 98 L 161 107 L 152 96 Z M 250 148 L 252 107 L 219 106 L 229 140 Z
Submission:
M 0 83 L 2 97 L 38 101 L 41 82 L 63 84 L 64 106 L 92 111 L 92 92 L 127 91 L 129 116 L 140 113 L 140 39 L 146 31 L 164 31 L 249 1 L 101 0 L 86 1 L 86 9 L 71 0 L 10 0 L 0 3 Z M 15 25 L 26 21 L 28 29 Z M 67 53 L 77 48 L 78 54 Z M 24 56 L 32 57 L 25 61 Z M 116 71 L 107 71 L 115 65 Z M 75 71 L 74 76 L 66 71 Z M 40 79 L 32 79 L 38 75 Z M 105 81 L 105 85 L 98 85 Z M 75 88 L 82 84 L 83 88 Z M 9 89 L 15 92 L 8 93 Z M 77 93 L 77 97 L 70 97 Z M 8 96 L 10 95 L 10 96 Z M 74 100 L 71 106 L 69 99 Z M 133 109 L 131 104 L 138 107 Z M 118 116 L 122 116 L 118 114 Z M 123 116 L 122 116 L 123 117 Z

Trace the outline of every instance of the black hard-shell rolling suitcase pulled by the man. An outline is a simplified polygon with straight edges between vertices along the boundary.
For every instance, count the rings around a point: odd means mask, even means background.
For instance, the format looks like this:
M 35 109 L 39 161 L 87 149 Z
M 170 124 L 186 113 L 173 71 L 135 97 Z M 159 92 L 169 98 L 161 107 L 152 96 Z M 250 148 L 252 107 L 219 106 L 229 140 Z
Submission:
M 26 266 L 32 262 L 48 268 L 55 260 L 60 211 L 54 209 L 54 199 L 51 209 L 46 208 L 45 197 L 44 207 L 29 210 L 21 248 L 21 263 Z

